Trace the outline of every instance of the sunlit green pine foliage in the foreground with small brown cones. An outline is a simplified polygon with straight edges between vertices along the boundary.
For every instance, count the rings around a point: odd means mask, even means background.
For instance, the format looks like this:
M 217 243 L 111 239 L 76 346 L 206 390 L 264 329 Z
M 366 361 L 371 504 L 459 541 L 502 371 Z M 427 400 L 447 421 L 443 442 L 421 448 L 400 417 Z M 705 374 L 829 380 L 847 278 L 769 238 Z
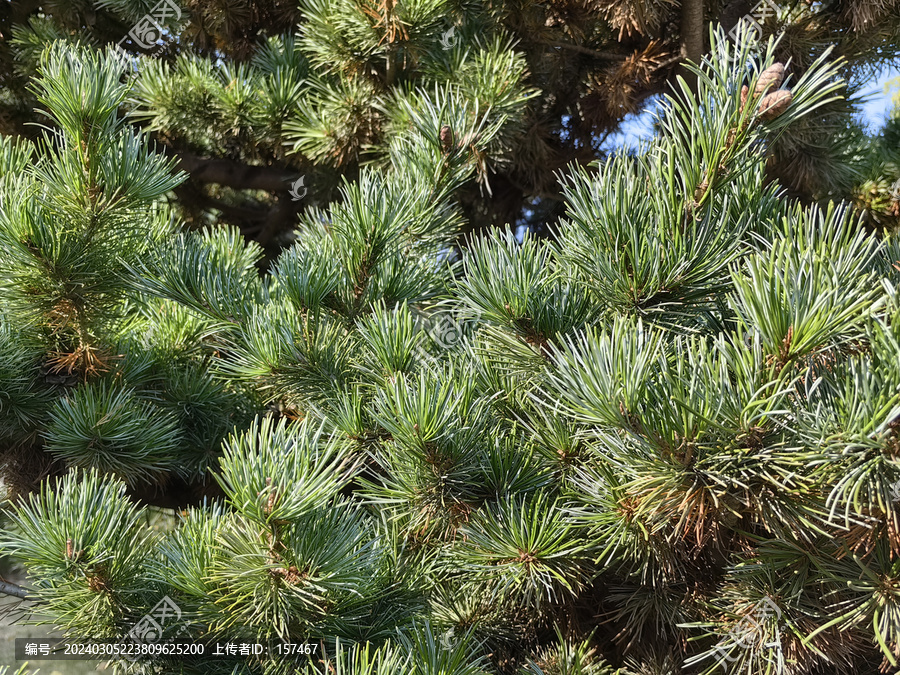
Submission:
M 167 206 L 127 64 L 46 49 L 49 123 L 0 145 L 34 618 L 126 639 L 166 600 L 164 637 L 315 648 L 122 673 L 897 668 L 900 245 L 766 179 L 841 64 L 710 35 L 653 141 L 561 177 L 552 240 L 458 245 L 515 114 L 448 83 L 264 273 Z

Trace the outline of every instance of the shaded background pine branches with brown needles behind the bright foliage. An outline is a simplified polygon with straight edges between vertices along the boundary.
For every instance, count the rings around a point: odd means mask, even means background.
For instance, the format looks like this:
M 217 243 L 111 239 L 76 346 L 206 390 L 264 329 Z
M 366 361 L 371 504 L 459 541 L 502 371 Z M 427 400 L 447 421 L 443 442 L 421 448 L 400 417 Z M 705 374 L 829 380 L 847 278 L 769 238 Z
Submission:
M 148 15 L 164 15 L 161 31 Z M 557 172 L 603 156 L 629 114 L 690 77 L 707 22 L 728 32 L 744 17 L 763 42 L 784 36 L 776 58 L 795 77 L 833 47 L 851 94 L 898 62 L 896 0 L 16 0 L 0 4 L 0 133 L 33 140 L 29 123 L 44 122 L 28 82 L 47 43 L 121 42 L 135 119 L 190 175 L 169 196 L 179 215 L 237 226 L 268 259 L 298 213 L 386 161 L 407 124 L 399 101 L 455 82 L 508 115 L 480 174 L 457 188 L 464 227 L 522 222 L 549 236 L 565 210 Z M 858 111 L 847 96 L 792 125 L 770 176 L 806 200 L 850 197 L 864 173 L 852 161 Z

